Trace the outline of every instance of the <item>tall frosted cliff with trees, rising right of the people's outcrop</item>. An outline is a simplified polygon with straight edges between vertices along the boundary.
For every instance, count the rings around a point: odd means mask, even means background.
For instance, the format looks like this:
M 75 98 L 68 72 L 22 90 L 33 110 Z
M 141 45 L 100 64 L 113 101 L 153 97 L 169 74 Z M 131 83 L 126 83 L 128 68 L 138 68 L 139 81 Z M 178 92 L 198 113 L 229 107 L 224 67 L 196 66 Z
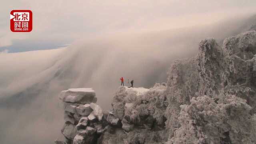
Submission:
M 256 31 L 202 40 L 167 82 L 167 144 L 254 144 Z M 192 98 L 193 97 L 193 98 Z M 191 99 L 192 98 L 192 99 Z

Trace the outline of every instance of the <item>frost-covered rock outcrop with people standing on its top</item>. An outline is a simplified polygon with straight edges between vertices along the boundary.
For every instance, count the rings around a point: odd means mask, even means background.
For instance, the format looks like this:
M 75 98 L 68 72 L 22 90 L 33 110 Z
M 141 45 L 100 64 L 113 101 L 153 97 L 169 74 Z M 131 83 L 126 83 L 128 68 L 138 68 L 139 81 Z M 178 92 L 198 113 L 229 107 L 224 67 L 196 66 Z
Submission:
M 164 84 L 156 84 L 150 89 L 120 87 L 113 98 L 112 107 L 113 113 L 122 123 L 123 131 L 116 131 L 112 135 L 105 133 L 102 142 L 110 141 L 104 144 L 162 144 L 166 141 L 165 90 Z M 117 137 L 120 134 L 123 134 L 122 139 Z

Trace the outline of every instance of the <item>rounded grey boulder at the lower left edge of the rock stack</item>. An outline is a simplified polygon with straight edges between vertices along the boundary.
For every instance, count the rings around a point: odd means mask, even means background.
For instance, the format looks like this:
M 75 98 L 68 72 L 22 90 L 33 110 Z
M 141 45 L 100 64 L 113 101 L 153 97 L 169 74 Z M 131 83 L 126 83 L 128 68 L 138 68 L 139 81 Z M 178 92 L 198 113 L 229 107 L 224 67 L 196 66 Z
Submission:
M 76 126 L 66 122 L 61 130 L 61 133 L 68 139 L 72 140 L 76 136 Z

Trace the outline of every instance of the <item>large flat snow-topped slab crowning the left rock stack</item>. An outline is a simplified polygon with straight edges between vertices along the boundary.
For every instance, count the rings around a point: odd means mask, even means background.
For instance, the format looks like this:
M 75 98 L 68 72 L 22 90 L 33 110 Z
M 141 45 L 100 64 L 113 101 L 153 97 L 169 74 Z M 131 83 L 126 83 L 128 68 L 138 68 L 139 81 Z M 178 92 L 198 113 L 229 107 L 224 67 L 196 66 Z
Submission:
M 63 102 L 90 104 L 97 101 L 92 88 L 70 88 L 60 92 L 59 99 Z

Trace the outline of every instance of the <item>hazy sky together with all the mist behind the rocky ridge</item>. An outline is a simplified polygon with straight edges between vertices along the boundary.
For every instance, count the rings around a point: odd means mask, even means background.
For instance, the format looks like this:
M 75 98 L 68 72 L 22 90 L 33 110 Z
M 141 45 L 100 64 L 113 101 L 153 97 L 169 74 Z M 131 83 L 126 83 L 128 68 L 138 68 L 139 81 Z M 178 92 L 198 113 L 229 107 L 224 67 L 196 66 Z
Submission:
M 200 40 L 222 46 L 255 25 L 255 8 L 255 0 L 1 2 L 1 144 L 53 143 L 64 124 L 60 91 L 92 87 L 109 110 L 120 77 L 135 87 L 166 82 L 172 61 L 196 56 Z M 32 10 L 32 32 L 10 31 L 14 9 Z

